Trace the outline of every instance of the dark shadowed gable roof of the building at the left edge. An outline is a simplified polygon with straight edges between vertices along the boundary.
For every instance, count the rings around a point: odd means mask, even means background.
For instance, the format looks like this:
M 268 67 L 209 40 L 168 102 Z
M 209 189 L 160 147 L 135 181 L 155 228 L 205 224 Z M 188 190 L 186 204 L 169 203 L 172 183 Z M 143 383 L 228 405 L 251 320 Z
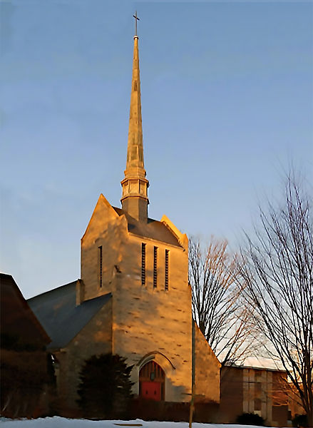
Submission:
M 51 342 L 11 275 L 0 273 L 0 297 L 1 334 L 41 346 Z

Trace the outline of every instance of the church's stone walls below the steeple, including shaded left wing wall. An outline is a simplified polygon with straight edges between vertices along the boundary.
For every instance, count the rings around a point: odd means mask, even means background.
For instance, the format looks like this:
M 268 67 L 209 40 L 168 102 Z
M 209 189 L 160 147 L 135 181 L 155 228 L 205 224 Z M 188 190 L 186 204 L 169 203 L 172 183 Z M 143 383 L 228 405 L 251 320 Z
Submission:
M 133 365 L 131 380 L 135 396 L 140 393 L 140 369 L 154 361 L 165 372 L 165 401 L 190 401 L 193 319 L 188 238 L 166 216 L 158 222 L 158 227 L 173 235 L 172 243 L 131 233 L 129 220 L 101 195 L 81 240 L 81 280 L 76 284 L 76 307 L 108 293 L 111 298 L 68 345 L 53 350 L 58 361 L 59 397 L 69 409 L 76 407 L 83 362 L 106 352 L 125 357 L 128 365 Z M 143 244 L 145 284 L 142 283 Z M 156 284 L 155 248 L 158 248 Z M 220 363 L 195 327 L 195 393 L 201 401 L 219 402 L 219 373 Z

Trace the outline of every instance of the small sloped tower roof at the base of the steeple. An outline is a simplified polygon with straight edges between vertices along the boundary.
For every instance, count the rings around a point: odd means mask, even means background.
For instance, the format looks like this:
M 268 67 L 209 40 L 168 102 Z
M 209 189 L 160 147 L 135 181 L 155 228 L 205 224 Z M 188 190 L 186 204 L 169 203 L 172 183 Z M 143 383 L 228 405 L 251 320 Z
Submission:
M 164 223 L 158 220 L 153 220 L 153 218 L 148 218 L 148 222 L 144 223 L 143 221 L 138 221 L 131 217 L 126 211 L 121 210 L 120 208 L 113 207 L 113 209 L 116 210 L 118 215 L 125 215 L 128 223 L 128 232 L 143 238 L 155 239 L 163 243 L 181 247 L 178 242 L 178 238 L 173 235 Z

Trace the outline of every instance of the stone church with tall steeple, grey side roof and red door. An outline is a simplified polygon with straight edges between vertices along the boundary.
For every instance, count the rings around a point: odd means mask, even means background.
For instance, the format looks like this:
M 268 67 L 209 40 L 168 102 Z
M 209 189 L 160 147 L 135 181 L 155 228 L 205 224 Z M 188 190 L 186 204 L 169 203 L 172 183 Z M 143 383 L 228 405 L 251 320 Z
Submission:
M 101 194 L 81 238 L 81 278 L 28 300 L 57 362 L 58 396 L 75 409 L 79 372 L 111 352 L 133 365 L 143 399 L 220 401 L 220 362 L 194 324 L 188 238 L 148 217 L 138 36 L 134 36 L 127 161 L 121 208 Z

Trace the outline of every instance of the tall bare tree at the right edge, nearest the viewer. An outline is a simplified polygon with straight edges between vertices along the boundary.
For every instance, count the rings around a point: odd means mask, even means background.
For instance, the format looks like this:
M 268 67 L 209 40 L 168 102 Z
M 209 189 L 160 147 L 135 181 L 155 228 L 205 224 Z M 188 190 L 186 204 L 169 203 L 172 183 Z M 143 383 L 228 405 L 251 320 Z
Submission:
M 267 353 L 282 363 L 313 427 L 313 212 L 299 183 L 290 174 L 283 202 L 260 208 L 240 273 Z

